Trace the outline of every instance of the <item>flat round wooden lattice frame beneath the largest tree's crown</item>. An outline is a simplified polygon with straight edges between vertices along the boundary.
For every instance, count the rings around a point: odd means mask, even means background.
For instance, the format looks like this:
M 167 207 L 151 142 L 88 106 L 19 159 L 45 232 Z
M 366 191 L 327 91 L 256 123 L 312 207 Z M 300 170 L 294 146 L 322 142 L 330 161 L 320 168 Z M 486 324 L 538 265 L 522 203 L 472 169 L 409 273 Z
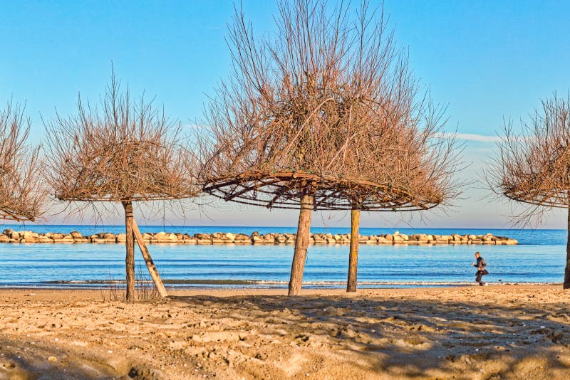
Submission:
M 359 199 L 358 209 L 363 211 L 421 211 L 442 202 L 436 196 L 416 199 L 391 184 L 299 171 L 247 172 L 208 181 L 202 190 L 224 201 L 268 209 L 299 209 L 299 199 L 308 186 L 313 189 L 314 211 L 351 210 L 355 207 L 353 199 Z

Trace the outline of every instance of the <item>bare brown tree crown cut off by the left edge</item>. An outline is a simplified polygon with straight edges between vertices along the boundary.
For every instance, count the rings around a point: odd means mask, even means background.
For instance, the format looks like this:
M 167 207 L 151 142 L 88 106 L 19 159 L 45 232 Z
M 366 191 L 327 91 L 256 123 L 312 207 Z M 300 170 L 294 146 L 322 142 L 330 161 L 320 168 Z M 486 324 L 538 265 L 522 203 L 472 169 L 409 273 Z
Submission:
M 30 127 L 24 107 L 8 102 L 0 110 L 0 219 L 35 221 L 45 210 L 40 147 L 27 144 Z

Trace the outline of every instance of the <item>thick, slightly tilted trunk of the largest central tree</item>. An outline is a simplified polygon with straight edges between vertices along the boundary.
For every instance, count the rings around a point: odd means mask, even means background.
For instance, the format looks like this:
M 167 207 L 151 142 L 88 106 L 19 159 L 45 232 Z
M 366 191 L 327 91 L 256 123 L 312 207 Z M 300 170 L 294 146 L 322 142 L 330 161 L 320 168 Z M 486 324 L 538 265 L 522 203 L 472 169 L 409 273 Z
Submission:
M 301 196 L 301 210 L 299 211 L 299 225 L 297 226 L 297 238 L 295 240 L 295 253 L 291 264 L 291 279 L 289 280 L 289 295 L 299 295 L 303 284 L 303 272 L 309 246 L 311 233 L 311 211 L 314 197 L 309 194 Z

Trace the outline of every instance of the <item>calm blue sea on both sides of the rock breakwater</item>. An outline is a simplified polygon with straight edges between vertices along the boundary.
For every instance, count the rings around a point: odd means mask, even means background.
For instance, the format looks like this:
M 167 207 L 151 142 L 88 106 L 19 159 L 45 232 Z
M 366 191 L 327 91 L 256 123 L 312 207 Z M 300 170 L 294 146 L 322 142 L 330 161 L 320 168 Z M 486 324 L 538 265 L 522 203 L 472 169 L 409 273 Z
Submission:
M 124 226 L 22 226 L 0 228 L 83 235 L 120 233 Z M 291 227 L 141 226 L 141 231 L 251 234 L 291 232 Z M 312 228 L 314 233 L 348 233 L 348 228 Z M 363 235 L 394 229 L 361 228 Z M 566 231 L 401 228 L 400 233 L 493 233 L 519 241 L 518 246 L 368 246 L 358 256 L 360 287 L 410 287 L 472 283 L 470 263 L 480 250 L 488 263 L 489 283 L 561 283 Z M 293 246 L 149 246 L 167 287 L 286 287 Z M 138 270 L 146 268 L 137 253 Z M 2 287 L 105 287 L 124 278 L 125 247 L 115 244 L 0 244 Z M 305 287 L 343 287 L 348 246 L 309 246 Z

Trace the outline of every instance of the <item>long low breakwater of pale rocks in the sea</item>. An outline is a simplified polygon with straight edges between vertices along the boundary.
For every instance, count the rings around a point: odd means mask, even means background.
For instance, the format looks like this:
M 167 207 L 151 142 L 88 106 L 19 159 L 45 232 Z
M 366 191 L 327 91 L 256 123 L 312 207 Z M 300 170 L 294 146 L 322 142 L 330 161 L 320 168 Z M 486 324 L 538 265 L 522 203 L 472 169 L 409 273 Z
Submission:
M 143 233 L 146 243 L 171 244 L 294 244 L 295 233 L 266 233 L 259 235 L 254 232 L 251 236 L 243 233 Z M 0 233 L 0 243 L 125 243 L 125 233 L 97 233 L 82 236 L 77 231 L 71 233 L 35 233 L 33 231 L 4 230 Z M 351 236 L 345 234 L 311 233 L 311 244 L 348 244 Z M 388 233 L 385 235 L 361 235 L 361 244 L 496 244 L 514 245 L 518 242 L 504 236 L 486 235 L 428 235 L 425 233 L 405 235 L 403 233 Z

